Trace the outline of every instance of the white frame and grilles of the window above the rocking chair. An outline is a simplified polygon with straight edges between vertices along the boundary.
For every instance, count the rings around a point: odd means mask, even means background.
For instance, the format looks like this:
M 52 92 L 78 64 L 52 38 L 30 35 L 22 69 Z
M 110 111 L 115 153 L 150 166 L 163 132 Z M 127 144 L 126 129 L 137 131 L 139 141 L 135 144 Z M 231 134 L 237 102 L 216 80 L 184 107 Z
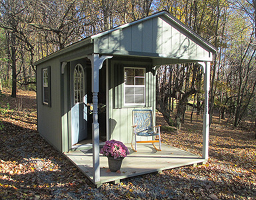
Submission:
M 133 69 L 134 71 L 136 70 L 136 69 L 143 69 L 143 74 L 144 74 L 144 76 L 143 77 L 141 77 L 141 76 L 136 76 L 136 75 L 134 75 L 133 77 L 134 77 L 134 84 L 133 85 L 126 85 L 125 84 L 125 82 L 126 82 L 126 80 L 125 80 L 125 78 L 127 78 L 126 77 L 126 75 L 125 75 L 125 69 Z M 135 73 L 134 73 L 135 74 Z M 123 105 L 125 105 L 125 106 L 144 106 L 145 105 L 145 100 L 146 100 L 146 87 L 145 87 L 145 85 L 146 85 L 146 76 L 145 76 L 145 74 L 146 74 L 146 69 L 144 68 L 144 67 L 124 67 L 124 69 L 123 69 L 123 81 L 124 81 L 124 90 L 123 90 L 123 95 L 124 95 L 124 103 L 123 103 Z M 143 78 L 144 79 L 144 81 L 143 81 L 143 85 L 136 85 L 136 78 Z M 143 88 L 143 103 L 126 103 L 126 94 L 125 94 L 125 91 L 126 91 L 126 89 L 127 89 L 127 87 L 140 87 L 140 88 Z M 136 96 L 139 96 L 139 95 L 136 95 L 136 94 L 134 94 L 133 95 L 134 96 L 134 98 L 136 97 Z

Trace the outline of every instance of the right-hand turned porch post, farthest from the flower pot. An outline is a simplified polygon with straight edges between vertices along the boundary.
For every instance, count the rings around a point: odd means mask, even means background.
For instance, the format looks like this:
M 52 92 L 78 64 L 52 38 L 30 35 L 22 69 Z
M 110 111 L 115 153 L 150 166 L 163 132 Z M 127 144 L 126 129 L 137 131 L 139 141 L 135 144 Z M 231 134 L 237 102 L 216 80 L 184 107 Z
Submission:
M 209 90 L 210 90 L 210 62 L 199 62 L 203 66 L 205 111 L 203 113 L 203 159 L 209 157 Z

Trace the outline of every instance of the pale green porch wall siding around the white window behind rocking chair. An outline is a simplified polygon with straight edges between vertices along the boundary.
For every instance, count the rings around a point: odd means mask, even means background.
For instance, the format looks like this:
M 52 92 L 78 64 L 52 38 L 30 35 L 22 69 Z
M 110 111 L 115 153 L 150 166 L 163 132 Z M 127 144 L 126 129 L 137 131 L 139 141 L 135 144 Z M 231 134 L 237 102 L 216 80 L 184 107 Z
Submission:
M 149 62 L 113 60 L 109 63 L 109 139 L 116 139 L 123 143 L 131 143 L 133 109 L 155 110 L 155 76 L 149 70 L 151 69 Z M 145 107 L 127 107 L 123 105 L 124 67 L 146 68 Z

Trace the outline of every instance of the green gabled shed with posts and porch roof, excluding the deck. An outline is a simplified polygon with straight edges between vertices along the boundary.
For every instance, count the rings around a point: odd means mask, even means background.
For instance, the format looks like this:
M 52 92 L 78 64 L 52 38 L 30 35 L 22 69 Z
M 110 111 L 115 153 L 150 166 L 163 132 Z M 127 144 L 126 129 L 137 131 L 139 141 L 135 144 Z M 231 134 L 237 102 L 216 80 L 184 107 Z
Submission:
M 99 145 L 131 142 L 133 109 L 155 113 L 157 66 L 197 62 L 205 77 L 207 160 L 210 62 L 216 51 L 167 11 L 87 37 L 35 63 L 38 131 L 62 153 L 92 147 L 93 183 L 101 183 Z

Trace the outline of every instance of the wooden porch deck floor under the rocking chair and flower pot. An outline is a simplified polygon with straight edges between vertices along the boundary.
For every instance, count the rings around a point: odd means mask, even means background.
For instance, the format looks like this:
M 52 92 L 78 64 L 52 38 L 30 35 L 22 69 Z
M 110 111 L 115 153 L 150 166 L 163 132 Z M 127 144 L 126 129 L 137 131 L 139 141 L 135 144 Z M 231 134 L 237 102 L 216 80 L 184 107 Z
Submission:
M 123 159 L 121 173 L 107 173 L 107 157 L 100 155 L 101 181 L 99 183 L 93 181 L 92 149 L 70 151 L 65 153 L 65 156 L 97 186 L 111 181 L 119 183 L 121 179 L 128 177 L 205 162 L 205 159 L 198 155 L 165 144 L 162 144 L 162 151 L 156 151 L 151 144 L 139 144 L 137 152 L 131 149 L 131 145 L 127 144 L 127 147 L 130 155 Z

